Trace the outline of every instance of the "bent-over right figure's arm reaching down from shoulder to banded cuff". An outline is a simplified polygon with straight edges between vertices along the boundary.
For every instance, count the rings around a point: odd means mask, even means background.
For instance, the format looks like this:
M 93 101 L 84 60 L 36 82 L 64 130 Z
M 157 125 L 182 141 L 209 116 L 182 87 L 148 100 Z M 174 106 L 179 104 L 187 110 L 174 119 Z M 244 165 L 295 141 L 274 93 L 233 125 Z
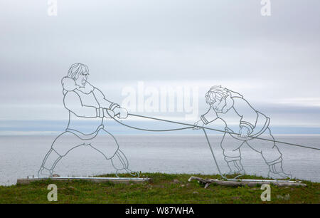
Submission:
M 235 108 L 235 111 L 241 117 L 240 128 L 247 128 L 249 131 L 247 134 L 250 135 L 257 124 L 257 111 L 243 98 L 233 98 L 233 100 L 235 101 L 233 108 Z

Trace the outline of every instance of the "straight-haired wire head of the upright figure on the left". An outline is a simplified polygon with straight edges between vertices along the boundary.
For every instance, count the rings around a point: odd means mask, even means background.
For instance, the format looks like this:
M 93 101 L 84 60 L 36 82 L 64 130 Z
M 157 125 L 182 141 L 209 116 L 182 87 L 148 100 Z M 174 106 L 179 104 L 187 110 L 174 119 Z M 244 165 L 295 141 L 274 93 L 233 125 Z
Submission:
M 82 63 L 73 63 L 70 66 L 68 71 L 68 77 L 73 78 L 75 84 L 80 87 L 85 87 L 85 83 L 87 83 L 87 76 L 89 75 L 89 68 Z

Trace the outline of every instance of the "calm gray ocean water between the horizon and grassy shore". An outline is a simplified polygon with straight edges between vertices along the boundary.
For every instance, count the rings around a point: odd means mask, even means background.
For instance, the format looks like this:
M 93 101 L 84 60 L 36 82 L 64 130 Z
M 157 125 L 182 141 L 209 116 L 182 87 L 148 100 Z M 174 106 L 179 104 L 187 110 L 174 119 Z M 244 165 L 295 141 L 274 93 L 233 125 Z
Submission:
M 121 150 L 134 171 L 216 174 L 206 138 L 203 135 L 118 135 Z M 221 135 L 210 136 L 215 156 L 223 172 L 219 142 Z M 320 147 L 320 135 L 275 135 L 276 140 Z M 0 136 L 0 185 L 13 185 L 18 178 L 37 174 L 55 135 Z M 107 145 L 106 145 L 107 146 Z M 284 170 L 299 179 L 320 182 L 320 151 L 279 145 Z M 241 148 L 242 164 L 250 175 L 266 176 L 268 167 L 261 155 L 247 145 Z M 110 161 L 89 146 L 78 147 L 55 167 L 60 176 L 92 176 L 114 172 Z

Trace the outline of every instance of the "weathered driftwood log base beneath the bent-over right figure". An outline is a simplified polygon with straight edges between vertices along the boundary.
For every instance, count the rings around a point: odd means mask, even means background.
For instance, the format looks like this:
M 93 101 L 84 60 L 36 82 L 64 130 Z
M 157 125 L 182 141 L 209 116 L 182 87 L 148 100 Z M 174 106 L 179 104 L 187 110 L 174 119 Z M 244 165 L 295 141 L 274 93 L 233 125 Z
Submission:
M 248 187 L 256 187 L 257 185 L 263 185 L 263 184 L 272 184 L 272 185 L 277 185 L 280 187 L 287 187 L 287 186 L 301 186 L 301 187 L 306 187 L 306 184 L 300 183 L 300 182 L 277 182 L 277 181 L 223 181 L 223 180 L 213 180 L 213 179 L 203 179 L 200 177 L 190 177 L 188 179 L 188 182 L 191 182 L 192 180 L 197 180 L 198 182 L 205 184 L 205 189 L 211 185 L 211 184 L 216 184 L 216 185 L 224 185 L 224 186 L 230 186 L 230 187 L 239 187 L 239 186 L 245 186 L 247 185 Z

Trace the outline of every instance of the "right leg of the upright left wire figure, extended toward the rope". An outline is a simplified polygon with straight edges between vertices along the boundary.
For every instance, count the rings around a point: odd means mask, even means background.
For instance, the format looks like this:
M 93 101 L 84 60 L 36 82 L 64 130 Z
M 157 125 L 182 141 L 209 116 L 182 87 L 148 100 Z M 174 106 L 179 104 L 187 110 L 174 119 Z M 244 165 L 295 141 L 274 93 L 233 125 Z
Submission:
M 107 130 L 101 130 L 100 133 L 90 142 L 90 146 L 100 152 L 106 160 L 111 160 L 116 174 L 124 170 L 131 175 L 138 175 L 129 170 L 129 161 L 122 150 L 119 149 L 117 139 Z

